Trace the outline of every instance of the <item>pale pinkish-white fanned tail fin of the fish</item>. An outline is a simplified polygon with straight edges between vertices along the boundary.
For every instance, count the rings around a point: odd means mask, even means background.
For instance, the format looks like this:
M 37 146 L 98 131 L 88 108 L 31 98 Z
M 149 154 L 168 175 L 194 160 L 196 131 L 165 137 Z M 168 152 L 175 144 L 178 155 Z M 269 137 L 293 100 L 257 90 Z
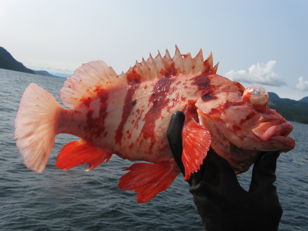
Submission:
M 15 119 L 16 146 L 27 168 L 42 172 L 54 145 L 61 111 L 55 98 L 31 83 L 22 95 Z

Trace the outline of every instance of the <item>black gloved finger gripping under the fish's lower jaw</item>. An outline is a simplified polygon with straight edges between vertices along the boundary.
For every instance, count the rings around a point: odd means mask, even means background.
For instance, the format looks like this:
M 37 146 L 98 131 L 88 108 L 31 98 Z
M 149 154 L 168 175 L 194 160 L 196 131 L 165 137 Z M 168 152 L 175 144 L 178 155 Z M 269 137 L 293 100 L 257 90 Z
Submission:
M 262 153 L 254 163 L 253 172 L 249 192 L 260 193 L 276 193 L 276 163 L 280 151 Z

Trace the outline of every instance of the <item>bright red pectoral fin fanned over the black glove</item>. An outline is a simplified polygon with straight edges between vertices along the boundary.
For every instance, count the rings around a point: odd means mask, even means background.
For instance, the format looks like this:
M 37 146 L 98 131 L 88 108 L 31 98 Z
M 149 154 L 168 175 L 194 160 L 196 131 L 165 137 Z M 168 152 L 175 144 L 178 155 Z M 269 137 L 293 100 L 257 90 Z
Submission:
M 185 179 L 190 178 L 193 172 L 200 169 L 211 144 L 211 135 L 209 131 L 191 119 L 184 125 L 182 132 L 183 153 L 182 162 L 185 168 Z

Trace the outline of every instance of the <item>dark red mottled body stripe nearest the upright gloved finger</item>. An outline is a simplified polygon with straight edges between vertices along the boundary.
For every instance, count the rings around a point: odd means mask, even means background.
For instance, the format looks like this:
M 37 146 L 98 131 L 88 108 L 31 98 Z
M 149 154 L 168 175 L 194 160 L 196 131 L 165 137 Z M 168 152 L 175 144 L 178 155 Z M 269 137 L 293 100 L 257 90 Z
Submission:
M 144 139 L 151 139 L 151 144 L 149 147 L 149 152 L 152 153 L 151 149 L 156 143 L 155 139 L 155 121 L 160 118 L 161 111 L 163 108 L 167 107 L 170 99 L 167 98 L 167 92 L 170 90 L 171 84 L 175 79 L 162 78 L 159 79 L 153 87 L 153 93 L 149 99 L 153 105 L 150 110 L 144 116 L 144 126 L 141 130 L 141 134 Z

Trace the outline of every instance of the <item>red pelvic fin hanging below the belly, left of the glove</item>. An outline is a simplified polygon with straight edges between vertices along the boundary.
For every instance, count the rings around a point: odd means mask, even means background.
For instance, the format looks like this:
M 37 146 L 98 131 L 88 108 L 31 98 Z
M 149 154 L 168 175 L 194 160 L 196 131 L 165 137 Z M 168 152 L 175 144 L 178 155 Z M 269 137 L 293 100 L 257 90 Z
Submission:
M 180 173 L 173 161 L 136 163 L 125 170 L 130 172 L 120 178 L 118 187 L 122 190 L 134 189 L 138 203 L 150 201 L 159 192 L 165 191 Z

